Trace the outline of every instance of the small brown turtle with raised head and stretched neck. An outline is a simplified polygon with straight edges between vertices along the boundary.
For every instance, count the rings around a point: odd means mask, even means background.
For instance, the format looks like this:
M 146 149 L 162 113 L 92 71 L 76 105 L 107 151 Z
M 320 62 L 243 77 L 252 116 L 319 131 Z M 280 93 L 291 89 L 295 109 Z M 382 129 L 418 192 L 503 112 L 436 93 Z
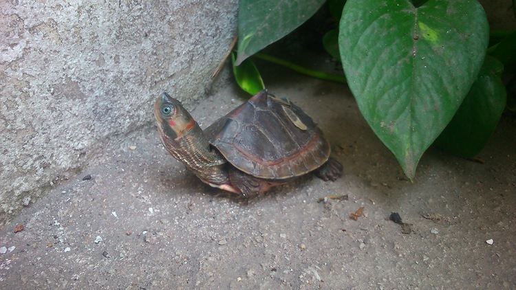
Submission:
M 343 166 L 299 107 L 266 90 L 202 131 L 181 102 L 162 93 L 154 116 L 164 148 L 209 186 L 255 197 L 314 172 L 335 181 Z

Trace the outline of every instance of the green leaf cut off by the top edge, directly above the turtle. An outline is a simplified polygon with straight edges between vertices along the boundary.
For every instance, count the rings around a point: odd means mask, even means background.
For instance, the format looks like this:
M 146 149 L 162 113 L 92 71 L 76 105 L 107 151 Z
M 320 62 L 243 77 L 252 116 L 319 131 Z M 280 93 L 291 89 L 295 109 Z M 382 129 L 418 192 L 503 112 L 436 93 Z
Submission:
M 240 0 L 237 65 L 307 21 L 325 0 Z

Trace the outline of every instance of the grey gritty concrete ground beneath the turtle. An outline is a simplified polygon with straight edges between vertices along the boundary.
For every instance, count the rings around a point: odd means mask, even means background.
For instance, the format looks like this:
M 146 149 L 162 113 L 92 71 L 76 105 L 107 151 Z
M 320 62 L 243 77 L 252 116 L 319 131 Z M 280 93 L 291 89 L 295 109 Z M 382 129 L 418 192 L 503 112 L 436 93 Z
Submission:
M 411 183 L 345 86 L 278 67 L 264 78 L 319 122 L 341 179 L 239 201 L 200 183 L 148 127 L 1 229 L 0 288 L 516 288 L 514 118 L 502 118 L 482 162 L 431 149 Z M 206 127 L 242 97 L 229 85 L 193 115 Z

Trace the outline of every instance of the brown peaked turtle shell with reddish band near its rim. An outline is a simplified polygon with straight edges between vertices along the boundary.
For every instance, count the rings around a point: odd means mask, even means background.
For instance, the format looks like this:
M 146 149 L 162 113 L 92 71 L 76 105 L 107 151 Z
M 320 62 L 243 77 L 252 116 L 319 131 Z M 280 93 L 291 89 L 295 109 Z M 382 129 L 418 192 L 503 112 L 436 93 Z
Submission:
M 330 144 L 292 102 L 261 91 L 206 129 L 236 168 L 263 179 L 304 175 L 330 157 Z

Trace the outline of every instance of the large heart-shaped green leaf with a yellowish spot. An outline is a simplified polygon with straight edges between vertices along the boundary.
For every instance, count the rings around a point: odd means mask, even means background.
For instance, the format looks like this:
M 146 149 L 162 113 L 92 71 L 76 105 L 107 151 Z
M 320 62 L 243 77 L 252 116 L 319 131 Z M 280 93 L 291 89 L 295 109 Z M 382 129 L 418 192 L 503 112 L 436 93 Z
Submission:
M 338 43 L 347 83 L 374 133 L 413 179 L 475 81 L 488 44 L 471 0 L 348 0 Z

